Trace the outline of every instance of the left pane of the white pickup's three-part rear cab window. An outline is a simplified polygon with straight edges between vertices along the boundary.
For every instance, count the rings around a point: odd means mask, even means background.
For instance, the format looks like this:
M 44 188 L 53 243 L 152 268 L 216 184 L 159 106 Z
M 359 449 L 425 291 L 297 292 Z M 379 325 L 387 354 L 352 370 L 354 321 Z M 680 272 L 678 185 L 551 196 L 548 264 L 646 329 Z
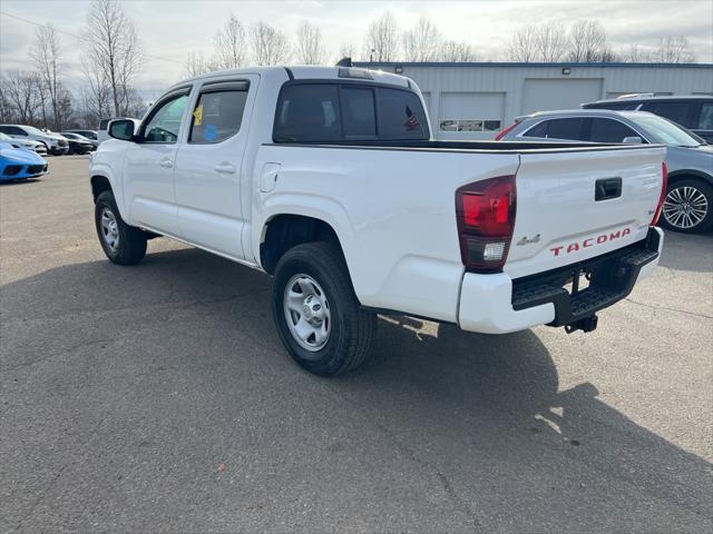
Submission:
M 275 141 L 339 141 L 342 126 L 336 85 L 304 83 L 282 90 L 275 117 Z

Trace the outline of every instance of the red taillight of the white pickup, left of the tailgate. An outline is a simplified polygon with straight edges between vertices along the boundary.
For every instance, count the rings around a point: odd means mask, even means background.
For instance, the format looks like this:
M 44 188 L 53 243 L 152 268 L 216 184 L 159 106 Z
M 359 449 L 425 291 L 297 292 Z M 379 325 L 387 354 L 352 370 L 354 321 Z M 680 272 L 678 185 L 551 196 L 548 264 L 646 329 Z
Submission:
M 466 267 L 481 273 L 502 269 L 515 211 L 515 176 L 476 181 L 456 191 L 460 255 Z

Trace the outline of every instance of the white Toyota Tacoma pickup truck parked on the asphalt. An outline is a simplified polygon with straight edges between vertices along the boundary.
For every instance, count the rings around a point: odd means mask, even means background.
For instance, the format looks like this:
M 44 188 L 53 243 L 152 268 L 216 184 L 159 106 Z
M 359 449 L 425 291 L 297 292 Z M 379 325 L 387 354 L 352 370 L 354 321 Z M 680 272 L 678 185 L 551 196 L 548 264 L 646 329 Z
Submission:
M 408 78 L 214 72 L 114 120 L 90 165 L 108 258 L 167 236 L 273 277 L 290 355 L 329 376 L 377 314 L 501 334 L 589 332 L 658 263 L 665 149 L 431 140 Z

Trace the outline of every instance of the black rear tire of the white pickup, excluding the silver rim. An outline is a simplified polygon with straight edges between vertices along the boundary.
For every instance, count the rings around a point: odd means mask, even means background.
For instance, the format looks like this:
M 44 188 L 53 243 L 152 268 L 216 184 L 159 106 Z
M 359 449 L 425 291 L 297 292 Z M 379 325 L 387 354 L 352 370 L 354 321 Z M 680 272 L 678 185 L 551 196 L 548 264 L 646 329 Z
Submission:
M 299 275 L 306 275 L 316 281 L 328 303 L 329 337 L 319 350 L 307 350 L 301 346 L 287 325 L 285 291 L 287 284 Z M 272 310 L 287 353 L 310 373 L 320 376 L 346 373 L 361 365 L 371 352 L 377 315 L 360 306 L 344 258 L 328 243 L 297 245 L 280 258 L 272 286 Z

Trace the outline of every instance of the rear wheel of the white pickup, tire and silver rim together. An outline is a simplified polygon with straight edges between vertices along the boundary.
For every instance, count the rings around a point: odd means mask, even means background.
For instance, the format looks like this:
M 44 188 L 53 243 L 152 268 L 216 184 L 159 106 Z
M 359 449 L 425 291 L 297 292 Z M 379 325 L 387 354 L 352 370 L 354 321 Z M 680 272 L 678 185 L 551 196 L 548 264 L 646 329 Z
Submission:
M 277 263 L 272 310 L 290 356 L 320 376 L 354 369 L 369 356 L 377 316 L 361 308 L 344 259 L 326 243 L 306 243 Z

